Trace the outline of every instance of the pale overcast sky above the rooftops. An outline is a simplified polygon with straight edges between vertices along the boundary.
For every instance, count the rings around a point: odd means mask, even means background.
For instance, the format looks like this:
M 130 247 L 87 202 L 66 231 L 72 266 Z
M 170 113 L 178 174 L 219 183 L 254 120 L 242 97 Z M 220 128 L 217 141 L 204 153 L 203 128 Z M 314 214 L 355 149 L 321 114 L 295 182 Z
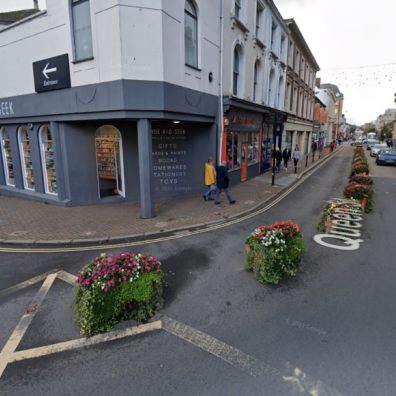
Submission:
M 343 92 L 349 122 L 375 120 L 395 106 L 396 0 L 274 1 L 284 18 L 296 20 L 322 82 Z M 32 6 L 33 0 L 0 0 L 0 11 Z

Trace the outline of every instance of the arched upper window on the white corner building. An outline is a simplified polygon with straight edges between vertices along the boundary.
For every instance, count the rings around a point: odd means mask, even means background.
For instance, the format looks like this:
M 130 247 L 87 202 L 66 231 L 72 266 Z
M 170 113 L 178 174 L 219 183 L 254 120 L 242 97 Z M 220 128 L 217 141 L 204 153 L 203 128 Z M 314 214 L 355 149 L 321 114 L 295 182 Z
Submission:
M 198 18 L 191 0 L 184 5 L 184 48 L 186 65 L 198 67 Z

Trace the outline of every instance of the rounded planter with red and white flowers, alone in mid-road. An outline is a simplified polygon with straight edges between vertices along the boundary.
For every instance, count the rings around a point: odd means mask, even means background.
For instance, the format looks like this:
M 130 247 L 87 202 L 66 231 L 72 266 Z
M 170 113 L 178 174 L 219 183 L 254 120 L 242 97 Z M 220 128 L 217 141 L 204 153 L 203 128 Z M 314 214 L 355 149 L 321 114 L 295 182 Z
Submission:
M 262 283 L 277 284 L 286 275 L 296 275 L 305 251 L 300 227 L 292 221 L 256 228 L 246 245 L 247 269 Z

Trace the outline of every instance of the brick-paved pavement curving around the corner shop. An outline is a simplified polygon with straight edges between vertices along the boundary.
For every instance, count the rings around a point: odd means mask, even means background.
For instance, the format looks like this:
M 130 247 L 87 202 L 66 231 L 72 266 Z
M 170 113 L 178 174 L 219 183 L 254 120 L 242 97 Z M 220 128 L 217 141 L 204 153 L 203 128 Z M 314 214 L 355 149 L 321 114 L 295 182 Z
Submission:
M 137 202 L 62 207 L 0 196 L 0 246 L 83 246 L 139 241 L 227 222 L 270 202 L 334 153 L 324 151 L 314 162 L 309 156 L 307 166 L 304 158 L 296 174 L 293 166 L 282 169 L 275 175 L 274 186 L 272 173 L 268 171 L 231 187 L 235 205 L 229 205 L 224 195 L 220 205 L 205 202 L 201 195 L 157 200 L 156 217 L 152 219 L 140 217 Z

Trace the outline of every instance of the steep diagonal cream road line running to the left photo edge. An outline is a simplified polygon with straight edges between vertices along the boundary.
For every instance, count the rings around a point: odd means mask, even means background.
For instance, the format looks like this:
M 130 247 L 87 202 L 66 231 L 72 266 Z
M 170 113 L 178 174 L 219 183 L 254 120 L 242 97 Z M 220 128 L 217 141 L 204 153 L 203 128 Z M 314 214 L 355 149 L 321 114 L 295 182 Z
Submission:
M 33 310 L 27 311 L 22 318 L 20 319 L 17 327 L 11 334 L 11 337 L 8 339 L 7 343 L 4 345 L 1 353 L 0 353 L 0 378 L 7 367 L 8 363 L 11 361 L 14 351 L 18 347 L 21 342 L 22 337 L 25 335 L 26 330 L 29 325 L 32 323 L 34 316 L 37 313 L 41 303 L 44 301 L 45 296 L 47 295 L 50 287 L 54 283 L 57 274 L 48 275 L 45 279 L 43 285 L 40 290 L 37 292 L 36 296 L 33 298 L 33 301 L 30 304 L 30 307 L 33 307 Z

